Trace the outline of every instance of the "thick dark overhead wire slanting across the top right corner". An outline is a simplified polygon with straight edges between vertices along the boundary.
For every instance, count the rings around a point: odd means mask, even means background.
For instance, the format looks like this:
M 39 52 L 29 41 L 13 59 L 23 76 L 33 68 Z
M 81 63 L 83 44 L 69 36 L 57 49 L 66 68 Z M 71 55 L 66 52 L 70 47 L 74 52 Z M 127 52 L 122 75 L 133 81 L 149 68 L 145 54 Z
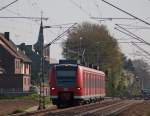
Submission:
M 143 22 L 143 23 L 145 23 L 145 24 L 147 24 L 147 25 L 150 26 L 150 23 L 149 23 L 149 22 L 147 22 L 147 21 L 145 21 L 145 20 L 143 20 L 143 19 L 141 19 L 141 18 L 136 17 L 136 16 L 132 15 L 131 13 L 128 13 L 128 12 L 125 11 L 125 10 L 122 10 L 121 8 L 119 8 L 119 7 L 115 6 L 115 5 L 113 5 L 113 4 L 109 3 L 109 2 L 107 2 L 106 0 L 102 0 L 102 1 L 105 2 L 105 3 L 107 3 L 108 5 L 110 5 L 110 6 L 114 7 L 114 8 L 116 8 L 116 9 L 118 9 L 119 11 L 122 11 L 122 12 L 124 12 L 125 14 L 127 14 L 127 15 L 129 15 L 129 16 L 131 16 L 131 17 L 133 17 L 133 18 L 135 18 L 135 19 L 137 19 L 137 20 L 139 20 L 139 21 L 141 21 L 141 22 Z

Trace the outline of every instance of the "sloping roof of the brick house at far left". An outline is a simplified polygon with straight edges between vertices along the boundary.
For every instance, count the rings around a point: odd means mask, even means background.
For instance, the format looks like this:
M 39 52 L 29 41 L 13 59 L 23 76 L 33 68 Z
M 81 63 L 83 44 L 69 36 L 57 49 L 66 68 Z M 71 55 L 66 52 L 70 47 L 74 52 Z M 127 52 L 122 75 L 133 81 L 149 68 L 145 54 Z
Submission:
M 32 62 L 19 48 L 0 33 L 0 45 L 2 45 L 12 56 L 23 60 L 23 62 Z

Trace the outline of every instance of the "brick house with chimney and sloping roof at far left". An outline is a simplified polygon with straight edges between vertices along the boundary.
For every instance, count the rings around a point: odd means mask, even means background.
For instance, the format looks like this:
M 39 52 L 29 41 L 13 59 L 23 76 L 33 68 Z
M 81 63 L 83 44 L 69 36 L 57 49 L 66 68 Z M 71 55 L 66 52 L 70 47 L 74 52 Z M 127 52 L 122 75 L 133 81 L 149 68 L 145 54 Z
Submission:
M 9 32 L 0 34 L 0 93 L 28 92 L 31 60 L 9 39 Z

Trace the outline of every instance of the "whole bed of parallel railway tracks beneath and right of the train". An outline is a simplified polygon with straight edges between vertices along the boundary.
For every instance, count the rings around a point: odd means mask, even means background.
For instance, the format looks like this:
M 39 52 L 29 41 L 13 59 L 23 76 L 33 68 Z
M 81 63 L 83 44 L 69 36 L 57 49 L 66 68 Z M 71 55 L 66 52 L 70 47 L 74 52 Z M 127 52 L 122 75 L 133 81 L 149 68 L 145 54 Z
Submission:
M 52 108 L 16 116 L 109 116 L 118 114 L 131 105 L 141 102 L 142 100 L 107 100 L 101 103 L 92 103 L 65 109 Z

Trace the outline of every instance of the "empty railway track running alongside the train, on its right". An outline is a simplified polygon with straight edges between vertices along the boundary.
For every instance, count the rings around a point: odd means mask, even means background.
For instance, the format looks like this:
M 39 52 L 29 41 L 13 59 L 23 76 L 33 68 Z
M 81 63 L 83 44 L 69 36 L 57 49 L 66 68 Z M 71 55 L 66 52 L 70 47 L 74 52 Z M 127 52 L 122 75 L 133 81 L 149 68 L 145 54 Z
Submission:
M 112 101 L 104 104 L 93 104 L 89 106 L 83 106 L 81 108 L 74 108 L 74 109 L 66 109 L 65 111 L 57 111 L 57 112 L 50 112 L 45 116 L 109 116 L 118 114 L 129 106 L 139 103 L 141 101 L 135 100 L 119 100 L 119 101 Z

